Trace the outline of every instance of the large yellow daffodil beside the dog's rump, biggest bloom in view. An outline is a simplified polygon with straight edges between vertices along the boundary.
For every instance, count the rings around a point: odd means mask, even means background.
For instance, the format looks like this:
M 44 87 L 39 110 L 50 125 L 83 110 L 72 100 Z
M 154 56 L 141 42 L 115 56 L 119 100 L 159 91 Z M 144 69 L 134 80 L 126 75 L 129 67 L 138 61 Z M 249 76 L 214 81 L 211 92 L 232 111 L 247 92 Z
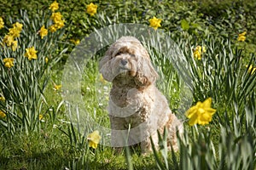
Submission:
M 189 118 L 189 125 L 195 124 L 205 125 L 212 121 L 212 116 L 216 112 L 211 107 L 212 99 L 208 98 L 203 103 L 197 102 L 196 105 L 189 108 L 186 111 L 186 116 Z

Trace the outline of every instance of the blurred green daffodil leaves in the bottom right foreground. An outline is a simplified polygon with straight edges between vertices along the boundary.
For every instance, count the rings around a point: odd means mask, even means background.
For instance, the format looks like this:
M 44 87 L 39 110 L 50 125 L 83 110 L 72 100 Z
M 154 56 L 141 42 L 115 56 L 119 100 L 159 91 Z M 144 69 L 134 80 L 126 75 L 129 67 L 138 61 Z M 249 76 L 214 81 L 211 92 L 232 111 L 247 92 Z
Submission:
M 253 169 L 256 150 L 254 106 L 255 103 L 249 103 L 245 110 L 236 111 L 233 117 L 226 116 L 224 121 L 219 118 L 218 144 L 212 143 L 214 126 L 194 126 L 190 129 L 192 136 L 189 135 L 189 129 L 182 136 L 178 135 L 179 155 L 173 150 L 172 156 L 163 154 L 167 152 L 167 148 L 163 147 L 160 159 L 154 149 L 155 160 L 160 169 L 169 169 L 166 161 L 171 160 L 175 169 Z M 166 143 L 165 136 L 163 139 L 160 137 L 160 143 Z

